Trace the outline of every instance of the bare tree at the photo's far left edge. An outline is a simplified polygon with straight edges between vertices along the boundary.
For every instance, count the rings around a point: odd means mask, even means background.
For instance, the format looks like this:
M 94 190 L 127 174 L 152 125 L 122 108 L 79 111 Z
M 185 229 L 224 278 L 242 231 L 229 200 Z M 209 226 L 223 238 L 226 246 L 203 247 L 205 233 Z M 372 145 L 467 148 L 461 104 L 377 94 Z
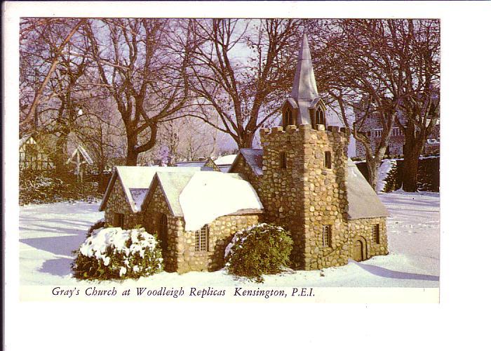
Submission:
M 29 18 L 21 23 L 20 128 L 54 137 L 49 156 L 58 176 L 65 176 L 68 135 L 77 131 L 81 105 L 90 99 L 81 86 L 90 66 L 88 41 L 77 31 L 83 22 Z

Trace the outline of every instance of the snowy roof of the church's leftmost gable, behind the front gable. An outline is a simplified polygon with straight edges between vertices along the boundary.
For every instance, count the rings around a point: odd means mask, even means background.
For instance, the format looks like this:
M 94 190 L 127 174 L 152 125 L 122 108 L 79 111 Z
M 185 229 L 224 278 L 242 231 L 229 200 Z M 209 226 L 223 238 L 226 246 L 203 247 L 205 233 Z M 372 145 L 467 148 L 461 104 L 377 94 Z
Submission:
M 109 185 L 107 185 L 107 190 L 102 198 L 102 203 L 100 204 L 99 211 L 104 211 L 109 195 L 112 192 L 114 183 L 116 179 L 119 178 L 123 191 L 126 194 L 126 201 L 130 205 L 133 212 L 140 211 L 140 206 L 143 199 L 140 196 L 133 198 L 131 190 L 142 190 L 148 189 L 150 183 L 152 183 L 152 178 L 156 172 L 166 172 L 166 173 L 194 173 L 200 170 L 199 167 L 156 167 L 156 166 L 116 166 Z M 136 193 L 135 193 L 136 194 Z M 141 193 L 139 193 L 141 195 Z M 136 200 L 136 201 L 135 201 Z

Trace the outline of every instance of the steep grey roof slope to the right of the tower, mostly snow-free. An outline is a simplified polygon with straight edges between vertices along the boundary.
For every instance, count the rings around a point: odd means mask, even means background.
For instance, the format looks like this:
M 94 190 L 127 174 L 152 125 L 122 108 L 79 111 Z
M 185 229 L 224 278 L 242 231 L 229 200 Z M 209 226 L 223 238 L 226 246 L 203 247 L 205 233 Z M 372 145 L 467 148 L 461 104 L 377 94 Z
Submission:
M 348 159 L 346 183 L 349 219 L 389 216 L 382 201 L 351 159 Z

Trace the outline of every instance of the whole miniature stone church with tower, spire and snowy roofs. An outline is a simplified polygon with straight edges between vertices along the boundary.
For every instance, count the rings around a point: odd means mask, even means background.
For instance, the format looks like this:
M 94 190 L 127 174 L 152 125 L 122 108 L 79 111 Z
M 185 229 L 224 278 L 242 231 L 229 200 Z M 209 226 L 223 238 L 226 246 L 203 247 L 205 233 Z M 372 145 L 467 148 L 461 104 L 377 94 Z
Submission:
M 157 234 L 170 272 L 219 270 L 234 233 L 262 222 L 290 232 L 298 270 L 386 255 L 389 213 L 347 157 L 342 121 L 325 109 L 304 35 L 282 126 L 260 131 L 262 149 L 239 150 L 228 173 L 116 167 L 100 211 L 109 225 L 142 225 Z M 206 223 L 187 209 L 191 190 L 195 207 L 209 215 L 198 216 Z

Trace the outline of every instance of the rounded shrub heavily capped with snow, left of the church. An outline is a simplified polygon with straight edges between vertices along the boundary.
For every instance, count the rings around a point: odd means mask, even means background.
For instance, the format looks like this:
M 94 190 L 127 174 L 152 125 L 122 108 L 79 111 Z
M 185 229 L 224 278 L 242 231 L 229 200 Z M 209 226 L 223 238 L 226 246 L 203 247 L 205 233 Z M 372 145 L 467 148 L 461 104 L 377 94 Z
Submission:
M 78 279 L 139 278 L 163 270 L 159 241 L 144 228 L 95 230 L 75 253 L 72 270 Z

